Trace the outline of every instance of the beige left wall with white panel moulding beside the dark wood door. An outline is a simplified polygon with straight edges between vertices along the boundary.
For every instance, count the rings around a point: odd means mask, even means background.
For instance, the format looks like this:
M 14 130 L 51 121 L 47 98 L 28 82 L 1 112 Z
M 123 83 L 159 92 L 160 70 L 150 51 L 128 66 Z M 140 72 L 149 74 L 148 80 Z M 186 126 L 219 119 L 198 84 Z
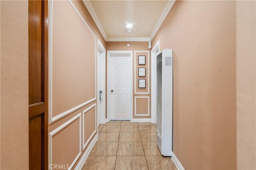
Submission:
M 70 166 L 80 153 L 81 147 L 81 154 L 72 167 L 74 169 L 97 134 L 96 38 L 100 39 L 104 46 L 106 42 L 84 3 L 82 1 L 72 1 L 72 3 L 93 33 L 68 1 L 53 1 L 52 116 L 58 116 L 74 107 L 76 109 L 50 123 L 48 131 L 52 135 L 52 143 L 49 143 L 52 149 L 52 164 Z M 94 101 L 79 106 L 93 99 Z M 91 106 L 92 108 L 87 110 Z M 74 117 L 76 119 L 70 121 Z M 53 133 L 67 122 L 65 127 Z

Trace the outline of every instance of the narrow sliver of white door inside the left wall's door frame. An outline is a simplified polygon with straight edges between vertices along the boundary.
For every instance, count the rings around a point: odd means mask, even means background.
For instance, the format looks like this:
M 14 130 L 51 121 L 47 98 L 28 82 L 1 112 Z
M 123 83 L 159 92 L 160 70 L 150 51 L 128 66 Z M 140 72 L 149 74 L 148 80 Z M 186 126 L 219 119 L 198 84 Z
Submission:
M 100 125 L 100 112 L 101 112 L 101 101 L 100 101 L 100 52 L 97 53 L 97 127 Z

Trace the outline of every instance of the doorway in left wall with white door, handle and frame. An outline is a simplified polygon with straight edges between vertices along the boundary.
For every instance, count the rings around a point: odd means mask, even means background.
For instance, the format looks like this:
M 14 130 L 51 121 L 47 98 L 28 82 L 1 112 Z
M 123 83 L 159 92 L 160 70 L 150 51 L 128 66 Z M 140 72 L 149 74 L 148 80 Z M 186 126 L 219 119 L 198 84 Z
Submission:
M 106 49 L 97 41 L 97 127 L 106 123 Z

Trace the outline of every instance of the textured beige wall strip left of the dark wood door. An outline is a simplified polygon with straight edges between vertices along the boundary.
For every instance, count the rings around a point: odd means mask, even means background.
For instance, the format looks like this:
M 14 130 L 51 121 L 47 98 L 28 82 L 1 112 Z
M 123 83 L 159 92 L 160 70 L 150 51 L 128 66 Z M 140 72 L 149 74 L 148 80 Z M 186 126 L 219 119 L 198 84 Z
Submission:
M 1 1 L 0 169 L 28 169 L 28 1 Z

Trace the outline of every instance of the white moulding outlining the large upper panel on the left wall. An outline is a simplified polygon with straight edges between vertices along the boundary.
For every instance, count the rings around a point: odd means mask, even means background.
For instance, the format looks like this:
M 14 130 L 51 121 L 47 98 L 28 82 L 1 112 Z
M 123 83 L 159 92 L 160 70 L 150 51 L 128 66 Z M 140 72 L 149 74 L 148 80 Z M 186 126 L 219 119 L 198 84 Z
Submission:
M 80 17 L 80 19 L 83 21 L 83 23 L 86 25 L 86 27 L 89 29 L 89 31 L 92 33 L 92 35 L 95 37 L 95 47 L 97 47 L 97 38 L 94 35 L 94 33 L 92 32 L 92 30 L 90 29 L 90 27 L 88 26 L 88 24 L 84 21 L 84 19 L 82 18 L 82 16 L 80 15 L 80 13 L 78 12 L 78 10 L 76 9 L 76 7 L 74 6 L 74 4 L 71 2 L 71 0 L 68 0 L 68 2 L 70 3 L 70 5 L 72 6 L 73 10 L 76 12 L 76 14 L 78 14 L 78 16 Z M 73 107 L 72 109 L 69 109 L 68 111 L 65 111 L 63 113 L 60 113 L 59 115 L 56 115 L 54 117 L 52 117 L 52 10 L 53 10 L 53 0 L 49 0 L 48 2 L 48 22 L 49 22 L 49 30 L 48 30 L 48 97 L 49 97 L 49 108 L 48 108 L 48 112 L 49 112 L 49 118 L 48 118 L 48 123 L 52 123 L 68 114 L 70 114 L 71 112 L 79 109 L 80 107 L 85 106 L 86 104 L 89 104 L 90 102 L 93 102 L 94 100 L 96 100 L 96 97 L 84 102 L 76 107 Z M 96 52 L 97 49 L 95 50 L 95 60 L 96 60 Z M 96 77 L 96 62 L 95 62 L 95 77 Z M 96 84 L 96 79 L 95 79 L 95 84 Z M 96 96 L 96 87 L 95 87 L 95 96 Z

